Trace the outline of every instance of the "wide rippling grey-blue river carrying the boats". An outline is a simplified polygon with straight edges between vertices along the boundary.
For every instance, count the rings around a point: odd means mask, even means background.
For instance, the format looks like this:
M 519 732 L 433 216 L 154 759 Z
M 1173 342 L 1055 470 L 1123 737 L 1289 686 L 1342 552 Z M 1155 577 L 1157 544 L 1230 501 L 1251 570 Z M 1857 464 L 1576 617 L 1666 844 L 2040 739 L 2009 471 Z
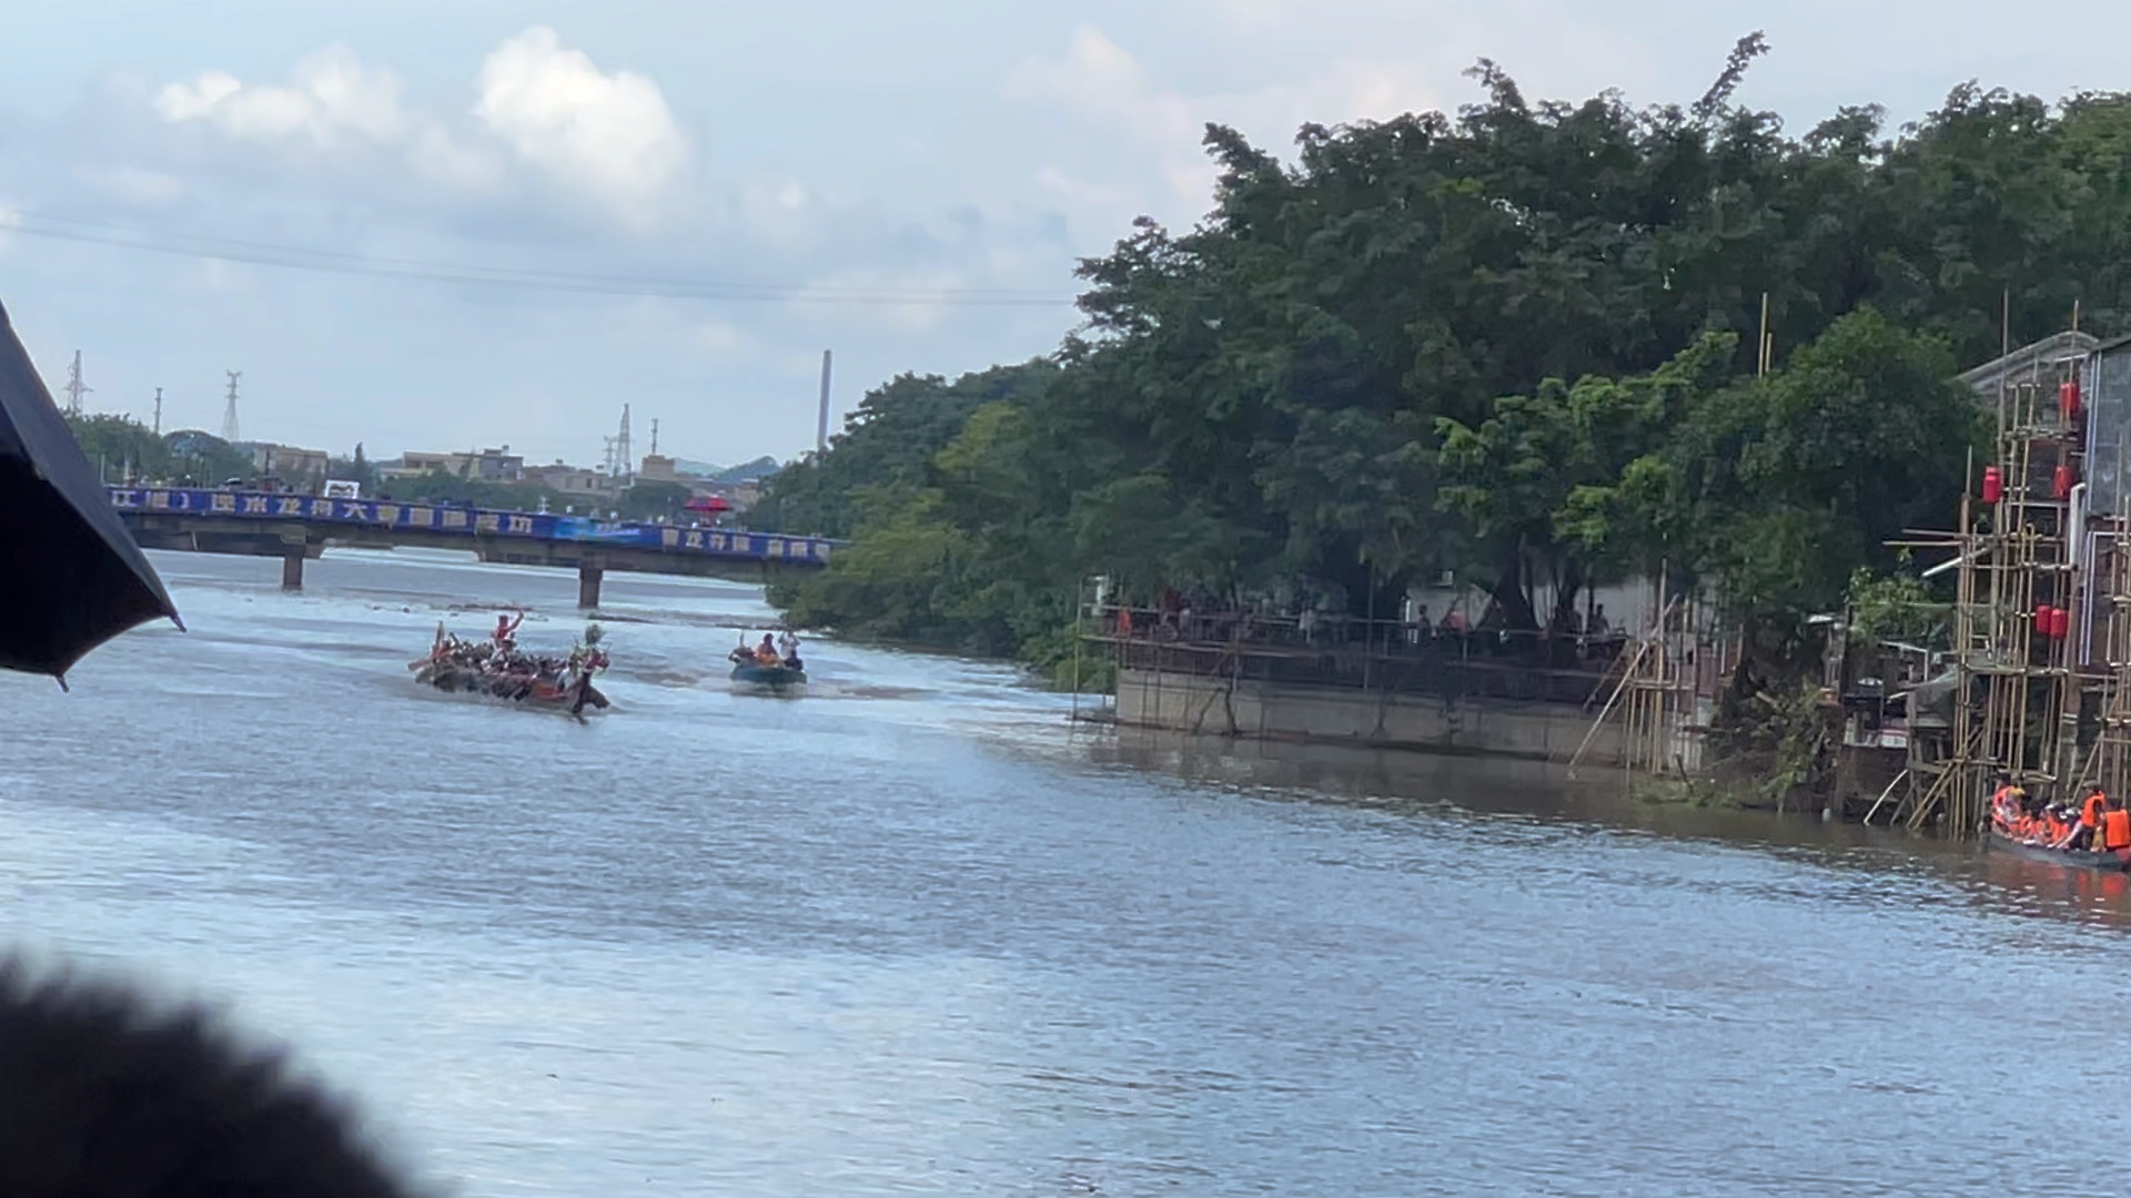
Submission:
M 156 561 L 192 631 L 0 680 L 6 925 L 473 1198 L 2120 1189 L 2122 878 L 829 642 L 733 695 L 716 582 L 607 578 L 580 727 L 405 669 L 569 573 Z

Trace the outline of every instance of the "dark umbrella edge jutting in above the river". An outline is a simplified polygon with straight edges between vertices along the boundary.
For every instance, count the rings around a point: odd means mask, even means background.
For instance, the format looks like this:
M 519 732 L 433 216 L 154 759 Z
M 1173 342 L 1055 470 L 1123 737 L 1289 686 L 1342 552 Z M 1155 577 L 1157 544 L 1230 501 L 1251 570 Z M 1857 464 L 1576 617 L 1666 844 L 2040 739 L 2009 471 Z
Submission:
M 156 567 L 66 431 L 0 307 L 0 669 L 66 671 L 158 616 L 177 620 Z M 179 625 L 183 627 L 183 625 Z

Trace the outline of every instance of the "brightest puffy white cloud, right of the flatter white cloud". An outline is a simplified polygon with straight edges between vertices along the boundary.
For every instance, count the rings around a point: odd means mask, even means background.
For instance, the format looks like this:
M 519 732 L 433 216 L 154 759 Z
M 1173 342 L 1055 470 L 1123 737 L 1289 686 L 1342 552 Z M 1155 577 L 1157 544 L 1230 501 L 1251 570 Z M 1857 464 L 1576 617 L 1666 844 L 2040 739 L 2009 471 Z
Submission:
M 646 222 L 688 160 L 665 94 L 644 75 L 607 75 L 535 26 L 482 62 L 473 113 L 526 164 Z

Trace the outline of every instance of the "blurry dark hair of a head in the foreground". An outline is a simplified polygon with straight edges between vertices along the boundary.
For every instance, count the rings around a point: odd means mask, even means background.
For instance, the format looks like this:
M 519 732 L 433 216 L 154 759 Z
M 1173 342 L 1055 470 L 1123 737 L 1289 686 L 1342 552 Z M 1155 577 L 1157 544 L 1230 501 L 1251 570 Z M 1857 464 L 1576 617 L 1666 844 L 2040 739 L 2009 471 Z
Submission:
M 0 1198 L 409 1198 L 347 1113 L 198 1006 L 0 961 Z

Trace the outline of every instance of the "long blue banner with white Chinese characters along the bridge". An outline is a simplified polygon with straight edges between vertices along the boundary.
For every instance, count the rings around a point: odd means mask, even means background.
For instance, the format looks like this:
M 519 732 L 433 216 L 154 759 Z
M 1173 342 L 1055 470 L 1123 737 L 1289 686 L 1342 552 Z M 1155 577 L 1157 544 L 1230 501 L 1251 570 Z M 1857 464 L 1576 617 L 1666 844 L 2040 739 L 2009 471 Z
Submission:
M 784 537 L 778 533 L 744 533 L 731 529 L 682 529 L 678 524 L 609 522 L 552 512 L 492 512 L 486 507 L 443 503 L 401 503 L 392 499 L 326 499 L 311 495 L 269 495 L 262 490 L 207 488 L 134 488 L 111 486 L 111 505 L 119 512 L 170 516 L 217 516 L 249 520 L 300 520 L 326 524 L 362 524 L 371 529 L 407 529 L 422 533 L 462 533 L 471 537 L 524 537 L 533 541 L 599 541 L 682 554 L 737 556 L 754 561 L 827 563 L 837 541 L 825 537 Z

